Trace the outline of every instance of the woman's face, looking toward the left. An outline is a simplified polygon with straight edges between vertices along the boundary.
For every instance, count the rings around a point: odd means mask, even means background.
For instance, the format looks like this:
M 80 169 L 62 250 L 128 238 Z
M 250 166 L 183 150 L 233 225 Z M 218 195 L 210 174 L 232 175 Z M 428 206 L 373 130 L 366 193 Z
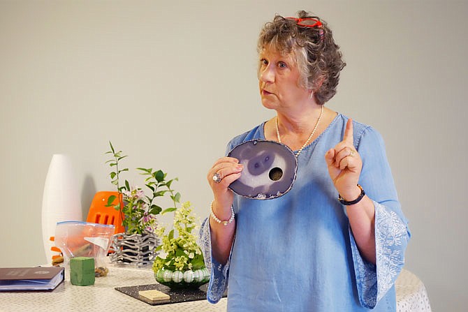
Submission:
M 300 73 L 293 54 L 263 50 L 258 65 L 258 85 L 263 106 L 291 110 L 310 101 L 310 91 L 300 86 Z

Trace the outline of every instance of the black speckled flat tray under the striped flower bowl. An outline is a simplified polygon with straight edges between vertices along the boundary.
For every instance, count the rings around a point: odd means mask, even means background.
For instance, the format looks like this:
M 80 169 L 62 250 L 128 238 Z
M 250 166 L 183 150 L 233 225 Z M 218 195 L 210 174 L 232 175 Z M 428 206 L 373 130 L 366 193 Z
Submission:
M 179 302 L 189 302 L 196 300 L 206 300 L 208 284 L 200 286 L 196 289 L 177 289 L 172 290 L 165 285 L 161 284 L 150 284 L 150 285 L 138 285 L 138 286 L 127 286 L 127 287 L 116 287 L 115 290 L 123 292 L 126 295 L 129 295 L 135 299 L 138 299 L 152 306 L 157 306 L 161 304 L 175 304 Z M 146 297 L 142 297 L 138 294 L 140 290 L 159 290 L 170 296 L 170 299 L 166 300 L 150 300 Z M 224 295 L 226 297 L 226 294 Z

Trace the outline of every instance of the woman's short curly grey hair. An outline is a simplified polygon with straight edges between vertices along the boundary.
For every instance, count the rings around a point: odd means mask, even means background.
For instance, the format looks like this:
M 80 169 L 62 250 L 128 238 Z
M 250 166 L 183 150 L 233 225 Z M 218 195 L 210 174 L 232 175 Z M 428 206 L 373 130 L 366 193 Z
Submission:
M 321 25 L 301 27 L 295 20 L 276 15 L 261 30 L 257 51 L 293 53 L 301 75 L 300 85 L 312 89 L 317 103 L 323 105 L 337 93 L 339 72 L 346 63 L 326 22 L 304 10 L 298 12 L 298 17 L 312 17 Z

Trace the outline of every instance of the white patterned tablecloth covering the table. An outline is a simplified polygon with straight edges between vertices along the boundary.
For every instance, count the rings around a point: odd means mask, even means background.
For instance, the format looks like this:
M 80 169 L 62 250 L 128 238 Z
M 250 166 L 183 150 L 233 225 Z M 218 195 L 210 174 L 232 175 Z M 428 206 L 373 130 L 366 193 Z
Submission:
M 226 311 L 227 299 L 218 304 L 206 300 L 151 306 L 115 290 L 115 287 L 154 284 L 150 269 L 109 267 L 108 276 L 89 286 L 71 285 L 68 276 L 52 292 L 0 292 L 0 312 L 54 311 Z M 431 311 L 427 292 L 417 276 L 403 269 L 396 282 L 397 311 Z

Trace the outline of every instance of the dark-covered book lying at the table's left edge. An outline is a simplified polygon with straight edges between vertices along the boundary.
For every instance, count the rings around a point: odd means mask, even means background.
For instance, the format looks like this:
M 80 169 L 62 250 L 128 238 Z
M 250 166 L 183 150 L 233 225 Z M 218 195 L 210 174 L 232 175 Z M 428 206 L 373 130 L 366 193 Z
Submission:
M 64 277 L 63 267 L 2 267 L 0 291 L 54 290 Z

